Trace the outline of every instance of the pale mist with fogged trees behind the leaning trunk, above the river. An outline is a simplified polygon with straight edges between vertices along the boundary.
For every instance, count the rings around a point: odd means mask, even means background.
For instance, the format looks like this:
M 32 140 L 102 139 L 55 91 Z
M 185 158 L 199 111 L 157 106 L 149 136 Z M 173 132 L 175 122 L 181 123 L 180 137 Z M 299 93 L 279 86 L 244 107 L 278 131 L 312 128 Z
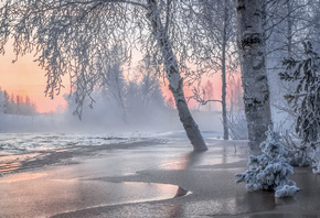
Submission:
M 173 99 L 164 96 L 152 69 L 141 65 L 131 78 L 114 64 L 105 77 L 106 80 L 99 81 L 102 84 L 97 84 L 90 94 L 75 90 L 65 95 L 67 108 L 64 111 L 22 116 L 18 110 L 12 110 L 15 115 L 4 113 L 9 110 L 3 107 L 0 132 L 183 131 Z M 214 105 L 210 105 L 207 111 L 192 110 L 202 131 L 222 132 L 221 113 L 215 110 Z

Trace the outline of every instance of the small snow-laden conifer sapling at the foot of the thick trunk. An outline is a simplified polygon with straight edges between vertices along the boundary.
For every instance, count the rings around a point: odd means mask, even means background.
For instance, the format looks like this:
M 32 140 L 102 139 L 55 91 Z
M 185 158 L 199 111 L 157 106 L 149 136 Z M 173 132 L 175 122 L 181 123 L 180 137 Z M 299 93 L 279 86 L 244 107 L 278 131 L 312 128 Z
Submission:
M 275 197 L 292 196 L 300 188 L 288 178 L 288 175 L 294 174 L 290 159 L 286 157 L 288 152 L 271 126 L 266 134 L 266 141 L 260 144 L 263 154 L 249 157 L 249 168 L 245 173 L 236 174 L 236 182 L 245 182 L 248 190 L 275 190 Z

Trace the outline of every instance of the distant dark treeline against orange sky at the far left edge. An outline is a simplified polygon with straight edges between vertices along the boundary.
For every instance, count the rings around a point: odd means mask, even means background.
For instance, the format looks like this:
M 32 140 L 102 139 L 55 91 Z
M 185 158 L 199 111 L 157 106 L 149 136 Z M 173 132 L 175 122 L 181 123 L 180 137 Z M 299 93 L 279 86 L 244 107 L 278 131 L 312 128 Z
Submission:
M 6 90 L 2 91 L 0 88 L 0 113 L 32 116 L 36 115 L 38 111 L 30 97 L 26 96 L 23 99 L 19 95 L 11 94 L 9 96 Z

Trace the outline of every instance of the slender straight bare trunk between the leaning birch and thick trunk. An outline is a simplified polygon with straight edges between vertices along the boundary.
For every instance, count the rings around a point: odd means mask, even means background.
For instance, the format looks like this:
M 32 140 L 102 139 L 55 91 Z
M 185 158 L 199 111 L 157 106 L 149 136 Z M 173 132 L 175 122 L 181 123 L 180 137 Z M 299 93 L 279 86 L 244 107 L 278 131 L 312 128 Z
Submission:
M 222 68 L 221 68 L 221 78 L 222 78 L 222 122 L 223 122 L 223 139 L 228 140 L 228 126 L 226 117 L 226 68 L 225 68 L 225 53 L 226 53 L 226 25 L 227 25 L 227 8 L 226 3 L 224 6 L 224 25 L 223 25 L 223 35 L 222 35 Z

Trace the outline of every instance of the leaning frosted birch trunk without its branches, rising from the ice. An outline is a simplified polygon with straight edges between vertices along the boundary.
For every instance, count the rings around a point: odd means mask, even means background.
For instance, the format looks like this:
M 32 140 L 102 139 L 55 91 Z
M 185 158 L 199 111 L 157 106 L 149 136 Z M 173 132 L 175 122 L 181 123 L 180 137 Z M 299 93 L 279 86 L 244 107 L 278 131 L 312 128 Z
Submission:
M 169 88 L 173 94 L 175 106 L 179 112 L 180 121 L 186 132 L 193 149 L 196 151 L 205 151 L 207 146 L 201 135 L 199 127 L 193 120 L 183 92 L 183 78 L 180 75 L 178 61 L 173 54 L 172 46 L 168 36 L 167 30 L 163 28 L 160 13 L 157 6 L 157 0 L 148 0 L 148 18 L 152 25 L 154 37 L 162 53 Z

